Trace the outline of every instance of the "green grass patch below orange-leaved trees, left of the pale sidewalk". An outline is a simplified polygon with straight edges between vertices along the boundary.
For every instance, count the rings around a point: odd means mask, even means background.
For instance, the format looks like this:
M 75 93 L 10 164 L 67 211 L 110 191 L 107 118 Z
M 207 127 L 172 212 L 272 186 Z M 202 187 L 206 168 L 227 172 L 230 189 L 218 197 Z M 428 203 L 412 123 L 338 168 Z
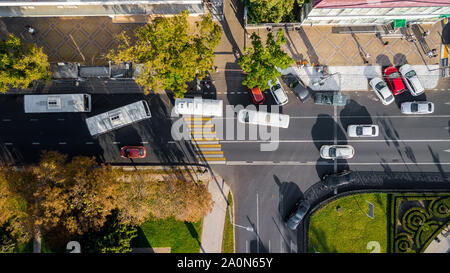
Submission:
M 138 237 L 131 242 L 137 247 L 170 247 L 172 253 L 199 253 L 202 221 L 180 222 L 174 218 L 150 219 L 138 228 Z

